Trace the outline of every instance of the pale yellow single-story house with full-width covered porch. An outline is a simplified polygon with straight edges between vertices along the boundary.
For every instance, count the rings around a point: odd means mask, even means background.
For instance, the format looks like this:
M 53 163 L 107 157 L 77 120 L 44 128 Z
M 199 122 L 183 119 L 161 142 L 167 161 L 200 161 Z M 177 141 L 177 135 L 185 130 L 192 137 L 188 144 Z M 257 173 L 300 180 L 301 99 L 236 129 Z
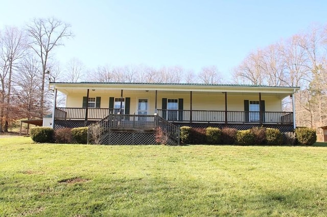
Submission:
M 299 87 L 161 83 L 51 82 L 50 86 L 55 90 L 54 128 L 99 123 L 108 132 L 153 129 L 159 123 L 167 131 L 172 126 L 178 129 L 267 126 L 289 131 L 295 127 L 295 110 L 293 106 L 293 111 L 283 111 L 282 101 L 299 90 Z M 55 106 L 57 91 L 66 95 L 63 107 Z

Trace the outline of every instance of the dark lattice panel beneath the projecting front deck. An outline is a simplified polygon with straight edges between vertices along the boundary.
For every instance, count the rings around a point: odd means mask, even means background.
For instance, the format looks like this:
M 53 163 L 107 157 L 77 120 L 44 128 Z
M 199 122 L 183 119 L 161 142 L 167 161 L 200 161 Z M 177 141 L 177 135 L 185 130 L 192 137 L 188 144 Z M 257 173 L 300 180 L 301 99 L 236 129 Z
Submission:
M 103 145 L 155 145 L 155 131 L 107 131 Z

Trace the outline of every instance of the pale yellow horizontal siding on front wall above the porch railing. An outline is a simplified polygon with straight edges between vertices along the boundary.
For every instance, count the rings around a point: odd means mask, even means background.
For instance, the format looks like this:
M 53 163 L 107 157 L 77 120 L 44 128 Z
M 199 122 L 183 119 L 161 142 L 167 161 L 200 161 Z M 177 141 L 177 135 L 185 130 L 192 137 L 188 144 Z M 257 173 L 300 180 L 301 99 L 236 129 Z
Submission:
M 66 107 L 82 107 L 83 96 L 85 94 L 71 94 L 66 98 Z M 89 97 L 101 97 L 101 108 L 109 107 L 109 97 L 120 98 L 121 91 L 89 91 Z M 130 97 L 130 114 L 137 114 L 137 100 L 148 99 L 149 113 L 155 112 L 155 91 L 123 91 L 123 97 Z M 183 99 L 184 110 L 190 110 L 190 92 L 177 91 L 158 91 L 157 108 L 162 108 L 162 98 L 167 99 Z M 267 112 L 281 112 L 281 99 L 273 95 L 262 94 L 262 100 L 265 100 L 265 110 Z M 227 110 L 228 111 L 244 111 L 244 100 L 259 101 L 259 94 L 236 95 L 227 93 Z M 192 110 L 213 110 L 225 111 L 225 94 L 213 92 L 193 92 L 192 93 Z

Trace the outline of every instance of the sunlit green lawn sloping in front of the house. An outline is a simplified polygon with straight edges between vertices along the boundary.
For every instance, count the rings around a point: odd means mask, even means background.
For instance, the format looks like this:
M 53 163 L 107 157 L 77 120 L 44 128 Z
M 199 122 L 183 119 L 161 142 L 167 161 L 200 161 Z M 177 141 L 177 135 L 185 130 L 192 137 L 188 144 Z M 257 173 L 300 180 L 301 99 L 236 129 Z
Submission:
M 327 147 L 0 136 L 0 216 L 326 216 Z

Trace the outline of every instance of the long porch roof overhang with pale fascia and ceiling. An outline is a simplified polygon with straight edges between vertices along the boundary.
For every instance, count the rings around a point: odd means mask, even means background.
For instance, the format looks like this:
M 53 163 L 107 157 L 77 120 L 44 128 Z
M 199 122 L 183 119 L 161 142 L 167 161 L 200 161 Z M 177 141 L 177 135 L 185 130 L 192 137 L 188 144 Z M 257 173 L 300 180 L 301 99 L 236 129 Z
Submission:
M 258 94 L 278 95 L 284 98 L 296 91 L 299 87 L 269 87 L 250 85 L 203 85 L 203 84 L 156 84 L 156 83 L 50 83 L 50 86 L 58 91 L 70 95 L 86 93 L 86 90 L 94 90 L 98 93 L 108 93 L 112 90 L 124 91 L 167 91 L 167 92 L 206 92 L 235 94 Z

